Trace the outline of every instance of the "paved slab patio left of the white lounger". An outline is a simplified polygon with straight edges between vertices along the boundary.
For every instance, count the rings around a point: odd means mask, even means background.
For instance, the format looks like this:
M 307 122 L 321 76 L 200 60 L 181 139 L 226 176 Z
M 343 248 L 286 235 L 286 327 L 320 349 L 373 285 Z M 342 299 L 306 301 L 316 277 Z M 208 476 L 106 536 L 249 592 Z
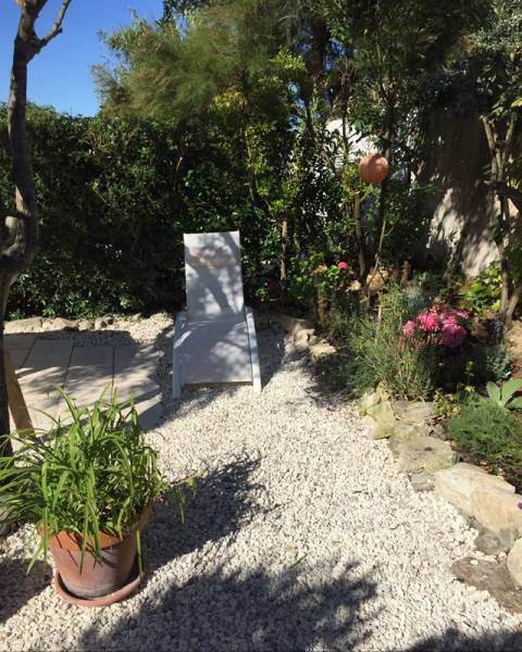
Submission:
M 79 405 L 91 405 L 113 385 L 122 400 L 134 396 L 144 428 L 152 428 L 161 417 L 158 353 L 152 346 L 85 346 L 80 339 L 46 339 L 45 334 L 7 335 L 5 340 L 35 428 L 47 428 L 50 416 L 63 415 L 55 385 Z

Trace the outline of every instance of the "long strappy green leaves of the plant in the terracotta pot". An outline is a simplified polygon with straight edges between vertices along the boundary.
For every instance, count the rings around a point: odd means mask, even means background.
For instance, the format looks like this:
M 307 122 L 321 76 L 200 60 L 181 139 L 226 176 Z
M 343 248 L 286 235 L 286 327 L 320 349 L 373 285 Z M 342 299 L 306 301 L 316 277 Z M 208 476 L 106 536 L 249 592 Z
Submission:
M 136 527 L 145 509 L 167 489 L 182 507 L 183 490 L 162 478 L 133 401 L 119 402 L 114 392 L 86 409 L 59 391 L 69 412 L 62 422 L 38 436 L 10 436 L 16 452 L 0 459 L 1 518 L 38 526 L 33 563 L 46 556 L 60 531 L 75 535 L 84 553 L 101 560 L 100 532 L 136 532 L 139 542 Z

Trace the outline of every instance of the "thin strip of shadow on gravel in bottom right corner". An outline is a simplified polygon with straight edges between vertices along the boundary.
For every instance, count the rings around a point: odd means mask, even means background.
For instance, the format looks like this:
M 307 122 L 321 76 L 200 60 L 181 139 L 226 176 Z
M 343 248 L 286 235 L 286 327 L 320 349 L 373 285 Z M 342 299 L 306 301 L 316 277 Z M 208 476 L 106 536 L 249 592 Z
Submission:
M 522 634 L 499 631 L 496 634 L 469 637 L 455 627 L 449 627 L 440 637 L 431 637 L 413 648 L 397 652 L 521 652 Z

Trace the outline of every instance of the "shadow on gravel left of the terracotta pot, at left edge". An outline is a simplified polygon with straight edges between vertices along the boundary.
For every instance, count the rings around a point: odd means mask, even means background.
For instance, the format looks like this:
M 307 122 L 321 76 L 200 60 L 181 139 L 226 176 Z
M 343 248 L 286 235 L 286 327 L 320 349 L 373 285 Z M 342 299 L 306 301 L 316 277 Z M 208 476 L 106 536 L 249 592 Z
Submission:
M 28 563 L 29 560 L 25 559 L 0 562 L 0 624 L 49 586 L 52 576 L 50 566 L 36 562 L 27 575 Z

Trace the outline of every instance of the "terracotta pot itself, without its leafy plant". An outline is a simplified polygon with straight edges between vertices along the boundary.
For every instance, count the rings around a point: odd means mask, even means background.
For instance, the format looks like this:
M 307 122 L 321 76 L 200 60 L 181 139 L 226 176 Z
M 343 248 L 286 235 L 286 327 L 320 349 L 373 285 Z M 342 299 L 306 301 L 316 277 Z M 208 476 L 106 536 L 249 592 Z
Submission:
M 139 531 L 146 526 L 151 513 L 152 505 L 149 505 L 138 523 Z M 128 581 L 136 560 L 136 528 L 129 530 L 123 539 L 100 532 L 100 546 L 102 562 L 96 559 L 92 543 L 88 542 L 82 563 L 80 537 L 61 531 L 50 539 L 49 550 L 54 557 L 57 572 L 65 589 L 73 595 L 86 599 L 108 595 Z

